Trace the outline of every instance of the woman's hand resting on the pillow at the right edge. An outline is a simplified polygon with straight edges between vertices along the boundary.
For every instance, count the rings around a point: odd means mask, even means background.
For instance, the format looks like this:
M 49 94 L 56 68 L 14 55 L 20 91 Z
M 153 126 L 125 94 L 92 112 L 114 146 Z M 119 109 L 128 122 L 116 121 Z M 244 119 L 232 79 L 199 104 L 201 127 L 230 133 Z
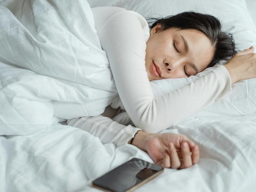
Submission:
M 254 47 L 235 54 L 224 66 L 228 70 L 232 83 L 244 79 L 256 78 L 256 54 Z

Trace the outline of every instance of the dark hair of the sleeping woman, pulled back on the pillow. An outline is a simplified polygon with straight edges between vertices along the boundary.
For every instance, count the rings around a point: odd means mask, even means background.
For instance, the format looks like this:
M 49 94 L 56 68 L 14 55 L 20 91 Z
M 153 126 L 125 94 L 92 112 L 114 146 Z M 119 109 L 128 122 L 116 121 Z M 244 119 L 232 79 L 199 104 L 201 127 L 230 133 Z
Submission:
M 236 54 L 233 35 L 221 31 L 221 22 L 212 15 L 186 11 L 177 15 L 164 18 L 149 18 L 147 20 L 153 20 L 148 22 L 149 25 L 153 23 L 150 25 L 151 29 L 160 23 L 163 30 L 178 28 L 180 30 L 197 29 L 202 31 L 210 39 L 214 48 L 213 59 L 207 67 L 215 65 L 221 59 L 228 60 Z

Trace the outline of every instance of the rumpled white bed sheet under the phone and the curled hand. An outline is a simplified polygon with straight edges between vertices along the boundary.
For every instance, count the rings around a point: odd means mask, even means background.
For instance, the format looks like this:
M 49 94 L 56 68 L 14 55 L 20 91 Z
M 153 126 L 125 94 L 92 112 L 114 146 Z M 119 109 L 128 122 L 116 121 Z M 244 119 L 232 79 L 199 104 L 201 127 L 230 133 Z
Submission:
M 256 117 L 191 118 L 162 131 L 187 135 L 201 151 L 200 162 L 164 172 L 136 191 L 236 192 L 256 188 Z M 0 137 L 2 191 L 99 191 L 91 181 L 133 157 L 152 162 L 132 145 L 102 144 L 65 125 L 40 134 Z

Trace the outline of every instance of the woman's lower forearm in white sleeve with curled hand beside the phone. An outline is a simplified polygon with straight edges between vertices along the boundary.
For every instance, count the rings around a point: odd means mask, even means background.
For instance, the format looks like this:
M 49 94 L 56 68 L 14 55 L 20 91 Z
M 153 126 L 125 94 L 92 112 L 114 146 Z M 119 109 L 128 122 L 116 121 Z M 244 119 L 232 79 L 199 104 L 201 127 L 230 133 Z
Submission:
M 67 121 L 67 125 L 91 133 L 100 138 L 103 144 L 113 143 L 117 147 L 130 144 L 138 131 L 132 145 L 146 151 L 156 164 L 165 168 L 188 168 L 199 161 L 198 147 L 185 135 L 145 133 L 137 127 L 119 124 L 102 115 L 73 118 Z M 188 145 L 182 148 L 184 143 Z

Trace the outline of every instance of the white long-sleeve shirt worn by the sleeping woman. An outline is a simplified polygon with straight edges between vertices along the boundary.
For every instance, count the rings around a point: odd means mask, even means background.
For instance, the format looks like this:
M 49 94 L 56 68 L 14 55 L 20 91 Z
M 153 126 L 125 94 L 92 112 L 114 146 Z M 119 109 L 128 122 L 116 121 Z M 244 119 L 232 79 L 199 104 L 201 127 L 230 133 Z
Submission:
M 197 81 L 154 98 L 145 68 L 149 34 L 146 30 L 147 21 L 138 13 L 119 7 L 96 7 L 93 8 L 93 15 L 124 109 L 134 125 L 142 131 L 160 132 L 208 107 L 215 100 L 231 94 L 232 83 L 228 71 L 219 65 Z M 102 141 L 114 142 L 117 146 L 127 143 L 139 130 L 111 123 L 113 121 L 106 118 L 86 117 L 82 124 L 88 127 L 93 124 L 94 128 L 87 128 L 87 131 L 100 137 Z M 73 121 L 70 120 L 69 125 L 78 126 L 75 121 L 72 124 L 70 122 Z M 102 135 L 108 135 L 109 138 L 103 138 Z

